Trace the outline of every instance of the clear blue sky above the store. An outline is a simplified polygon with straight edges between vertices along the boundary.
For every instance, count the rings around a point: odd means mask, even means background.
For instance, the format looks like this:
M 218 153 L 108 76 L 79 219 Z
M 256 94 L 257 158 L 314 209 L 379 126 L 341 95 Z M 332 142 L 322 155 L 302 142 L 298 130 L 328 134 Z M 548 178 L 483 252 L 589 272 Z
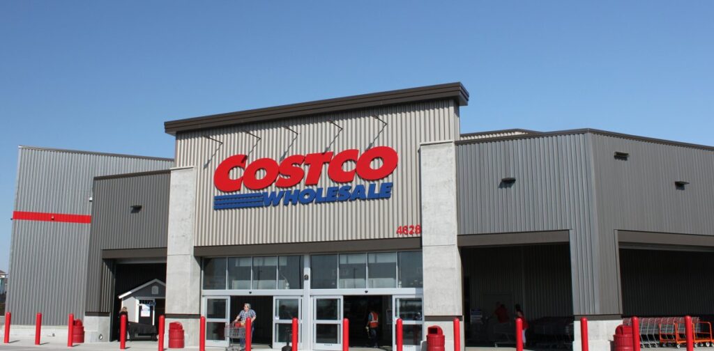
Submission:
M 0 270 L 17 146 L 173 157 L 163 123 L 461 81 L 462 132 L 713 145 L 714 1 L 1 1 Z

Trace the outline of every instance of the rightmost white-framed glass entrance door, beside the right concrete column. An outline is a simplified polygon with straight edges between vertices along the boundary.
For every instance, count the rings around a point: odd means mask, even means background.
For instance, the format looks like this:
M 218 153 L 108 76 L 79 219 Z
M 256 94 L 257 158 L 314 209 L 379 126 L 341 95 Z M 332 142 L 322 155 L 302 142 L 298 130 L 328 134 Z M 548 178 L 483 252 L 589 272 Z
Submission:
M 421 350 L 421 340 L 424 337 L 424 317 L 423 302 L 421 297 L 394 295 L 392 297 L 394 306 L 393 320 L 396 328 L 396 319 L 402 320 L 402 337 L 405 351 Z M 396 350 L 396 330 L 392 333 L 393 347 Z

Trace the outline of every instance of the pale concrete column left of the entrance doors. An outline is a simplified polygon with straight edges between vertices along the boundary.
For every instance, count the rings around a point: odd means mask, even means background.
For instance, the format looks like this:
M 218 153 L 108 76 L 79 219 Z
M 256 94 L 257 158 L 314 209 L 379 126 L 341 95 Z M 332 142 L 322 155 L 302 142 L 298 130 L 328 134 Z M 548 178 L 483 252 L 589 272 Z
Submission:
M 171 169 L 169 240 L 166 245 L 166 340 L 169 323 L 181 322 L 186 346 L 198 345 L 201 263 L 193 257 L 196 170 Z

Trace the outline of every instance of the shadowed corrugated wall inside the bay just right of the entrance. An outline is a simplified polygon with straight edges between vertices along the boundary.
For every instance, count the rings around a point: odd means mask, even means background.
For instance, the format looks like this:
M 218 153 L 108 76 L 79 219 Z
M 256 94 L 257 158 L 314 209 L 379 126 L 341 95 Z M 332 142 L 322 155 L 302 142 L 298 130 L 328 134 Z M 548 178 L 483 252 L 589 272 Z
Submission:
M 493 306 L 486 295 L 510 294 L 529 320 L 573 315 L 567 244 L 463 248 L 461 252 L 463 275 L 471 284 L 471 308 L 488 314 Z

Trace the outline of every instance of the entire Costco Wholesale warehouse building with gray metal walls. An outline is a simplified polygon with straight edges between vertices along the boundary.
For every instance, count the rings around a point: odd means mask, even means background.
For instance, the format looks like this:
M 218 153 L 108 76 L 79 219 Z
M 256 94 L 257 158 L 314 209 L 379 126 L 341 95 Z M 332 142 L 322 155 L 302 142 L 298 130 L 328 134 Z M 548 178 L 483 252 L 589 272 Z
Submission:
M 593 350 L 622 317 L 714 315 L 714 148 L 461 134 L 467 103 L 448 83 L 169 121 L 175 160 L 22 146 L 7 310 L 109 341 L 124 305 L 188 345 L 204 315 L 223 346 L 249 302 L 254 342 L 279 349 L 298 317 L 303 350 L 340 349 L 343 318 L 366 345 L 369 310 L 383 347 L 403 319 L 407 350 L 426 325 L 453 347 L 455 317 L 461 345 L 492 345 L 497 303 L 532 345 L 577 349 L 586 316 Z

